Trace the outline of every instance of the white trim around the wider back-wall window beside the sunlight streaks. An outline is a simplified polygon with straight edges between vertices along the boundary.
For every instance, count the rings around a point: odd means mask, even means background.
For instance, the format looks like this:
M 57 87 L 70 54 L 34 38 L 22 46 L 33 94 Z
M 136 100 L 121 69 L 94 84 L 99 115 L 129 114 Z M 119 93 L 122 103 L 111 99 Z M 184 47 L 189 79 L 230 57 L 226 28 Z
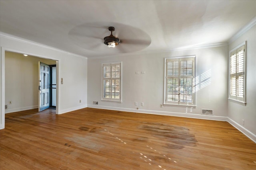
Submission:
M 196 78 L 196 55 L 188 55 L 188 56 L 179 56 L 179 57 L 168 57 L 168 58 L 164 58 L 164 102 L 163 105 L 164 106 L 176 106 L 176 107 L 192 107 L 192 108 L 196 108 L 196 91 L 192 92 L 194 93 L 194 95 L 192 96 L 192 100 L 194 101 L 191 105 L 186 105 L 184 103 L 182 104 L 169 104 L 166 103 L 166 61 L 168 59 L 187 59 L 187 58 L 194 58 L 194 74 L 193 74 L 193 78 Z M 192 83 L 193 84 L 193 83 Z

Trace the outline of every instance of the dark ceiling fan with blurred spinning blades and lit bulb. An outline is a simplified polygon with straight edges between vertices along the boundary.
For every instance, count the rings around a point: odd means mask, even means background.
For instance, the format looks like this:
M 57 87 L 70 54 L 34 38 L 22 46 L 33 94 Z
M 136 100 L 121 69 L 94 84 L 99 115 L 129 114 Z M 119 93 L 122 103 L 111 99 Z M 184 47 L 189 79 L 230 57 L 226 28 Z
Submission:
M 106 25 L 115 25 L 115 27 L 106 27 Z M 106 36 L 108 31 L 111 34 Z M 113 31 L 115 31 L 115 36 Z M 143 30 L 113 22 L 84 23 L 71 29 L 68 35 L 76 45 L 102 55 L 140 51 L 151 44 L 150 36 Z M 108 47 L 118 45 L 118 47 L 107 50 L 106 45 Z

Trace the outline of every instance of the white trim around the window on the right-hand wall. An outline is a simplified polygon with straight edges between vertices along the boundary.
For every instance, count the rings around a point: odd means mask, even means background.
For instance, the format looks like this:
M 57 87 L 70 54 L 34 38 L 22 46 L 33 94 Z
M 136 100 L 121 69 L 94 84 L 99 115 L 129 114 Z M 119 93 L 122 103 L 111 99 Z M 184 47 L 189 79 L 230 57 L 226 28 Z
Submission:
M 243 101 L 242 100 L 237 100 L 234 98 L 231 98 L 230 95 L 230 55 L 231 53 L 233 53 L 234 51 L 238 50 L 239 48 L 241 48 L 244 45 L 244 98 Z M 244 41 L 243 43 L 241 43 L 240 45 L 236 46 L 235 48 L 233 48 L 232 50 L 229 51 L 229 56 L 228 56 L 228 101 L 230 102 L 234 102 L 237 104 L 241 104 L 246 106 L 246 41 Z

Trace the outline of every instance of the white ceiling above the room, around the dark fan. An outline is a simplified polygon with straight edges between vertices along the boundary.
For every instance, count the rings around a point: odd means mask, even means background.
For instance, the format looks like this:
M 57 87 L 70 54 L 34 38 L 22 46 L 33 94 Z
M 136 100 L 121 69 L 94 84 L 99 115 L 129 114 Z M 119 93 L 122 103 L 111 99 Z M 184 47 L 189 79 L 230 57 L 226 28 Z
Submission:
M 0 0 L 0 32 L 85 57 L 224 43 L 255 17 L 256 0 Z

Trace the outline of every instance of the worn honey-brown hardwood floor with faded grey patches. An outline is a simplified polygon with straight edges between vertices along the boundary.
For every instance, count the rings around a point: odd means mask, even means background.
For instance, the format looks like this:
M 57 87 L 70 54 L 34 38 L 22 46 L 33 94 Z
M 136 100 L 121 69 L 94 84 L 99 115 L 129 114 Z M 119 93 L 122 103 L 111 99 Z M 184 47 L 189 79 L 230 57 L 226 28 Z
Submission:
M 256 169 L 256 143 L 227 122 L 92 108 L 5 116 L 1 170 Z

